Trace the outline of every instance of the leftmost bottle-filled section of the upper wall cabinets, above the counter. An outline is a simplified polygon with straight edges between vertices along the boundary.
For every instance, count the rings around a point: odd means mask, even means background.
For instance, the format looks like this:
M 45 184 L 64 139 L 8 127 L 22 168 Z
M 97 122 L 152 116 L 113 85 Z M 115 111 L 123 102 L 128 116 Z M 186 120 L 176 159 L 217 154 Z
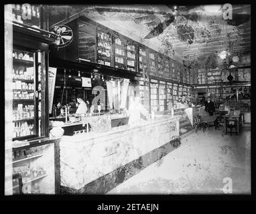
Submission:
M 111 66 L 111 33 L 105 33 L 98 29 L 97 33 L 97 63 Z

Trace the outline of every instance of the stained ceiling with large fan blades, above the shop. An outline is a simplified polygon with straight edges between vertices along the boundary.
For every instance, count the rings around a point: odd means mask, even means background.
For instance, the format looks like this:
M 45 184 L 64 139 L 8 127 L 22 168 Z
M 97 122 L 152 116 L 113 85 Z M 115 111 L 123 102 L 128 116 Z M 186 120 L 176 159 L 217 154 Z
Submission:
M 233 41 L 233 54 L 251 51 L 251 6 L 232 5 L 69 5 L 70 16 L 84 15 L 172 58 L 199 59 L 219 54 Z M 59 6 L 56 6 L 59 7 Z

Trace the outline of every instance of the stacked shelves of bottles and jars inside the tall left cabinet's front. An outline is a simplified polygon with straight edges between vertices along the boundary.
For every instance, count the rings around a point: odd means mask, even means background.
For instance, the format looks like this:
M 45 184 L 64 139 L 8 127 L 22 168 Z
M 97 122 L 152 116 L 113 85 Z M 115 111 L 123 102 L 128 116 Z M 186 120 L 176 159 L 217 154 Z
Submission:
M 35 130 L 35 54 L 13 49 L 13 140 Z

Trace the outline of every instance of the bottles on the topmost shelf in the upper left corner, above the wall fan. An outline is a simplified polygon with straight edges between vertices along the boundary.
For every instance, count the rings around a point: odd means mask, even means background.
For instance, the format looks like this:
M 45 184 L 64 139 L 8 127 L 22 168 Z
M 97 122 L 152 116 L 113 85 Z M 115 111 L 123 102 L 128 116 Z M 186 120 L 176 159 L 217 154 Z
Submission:
M 25 16 L 24 16 L 25 15 Z M 23 17 L 24 16 L 24 17 Z M 24 25 L 40 28 L 40 5 L 13 4 L 12 13 L 7 17 Z

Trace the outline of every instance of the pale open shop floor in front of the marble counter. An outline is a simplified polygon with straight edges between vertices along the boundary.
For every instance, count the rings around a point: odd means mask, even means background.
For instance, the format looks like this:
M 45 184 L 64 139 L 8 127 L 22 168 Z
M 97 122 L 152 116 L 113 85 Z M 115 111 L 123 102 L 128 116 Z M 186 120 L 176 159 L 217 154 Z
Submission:
M 190 134 L 179 148 L 107 194 L 224 194 L 226 177 L 232 179 L 233 194 L 251 193 L 248 125 L 237 136 L 214 127 Z

